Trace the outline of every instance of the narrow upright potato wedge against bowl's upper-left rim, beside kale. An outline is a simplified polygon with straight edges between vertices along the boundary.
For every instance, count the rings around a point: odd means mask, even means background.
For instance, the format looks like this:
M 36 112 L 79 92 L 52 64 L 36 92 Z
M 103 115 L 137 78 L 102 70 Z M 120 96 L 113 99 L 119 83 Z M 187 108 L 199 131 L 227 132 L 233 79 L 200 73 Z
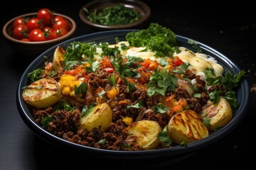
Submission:
M 63 47 L 60 47 L 60 46 L 56 47 L 53 54 L 53 69 L 55 71 L 58 71 L 58 69 L 63 68 L 62 62 L 64 61 L 64 54 L 65 54 L 65 50 L 63 49 Z

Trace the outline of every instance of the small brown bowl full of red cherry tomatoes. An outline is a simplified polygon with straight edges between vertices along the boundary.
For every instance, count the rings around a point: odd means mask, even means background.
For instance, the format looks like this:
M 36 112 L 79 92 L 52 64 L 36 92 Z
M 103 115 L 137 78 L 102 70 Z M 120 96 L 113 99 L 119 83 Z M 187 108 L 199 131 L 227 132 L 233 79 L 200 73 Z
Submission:
M 64 40 L 73 38 L 73 18 L 41 8 L 9 20 L 3 27 L 4 38 L 18 55 L 37 56 Z

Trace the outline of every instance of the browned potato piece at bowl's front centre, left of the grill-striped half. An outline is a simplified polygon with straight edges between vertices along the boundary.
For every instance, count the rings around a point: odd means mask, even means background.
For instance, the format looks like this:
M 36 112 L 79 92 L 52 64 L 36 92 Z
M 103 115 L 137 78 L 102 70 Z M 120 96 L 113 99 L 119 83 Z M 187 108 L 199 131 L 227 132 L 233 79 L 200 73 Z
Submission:
M 139 145 L 144 150 L 155 149 L 159 145 L 160 125 L 153 120 L 140 120 L 132 123 L 124 129 L 127 133 L 127 140 L 135 139 L 133 145 Z

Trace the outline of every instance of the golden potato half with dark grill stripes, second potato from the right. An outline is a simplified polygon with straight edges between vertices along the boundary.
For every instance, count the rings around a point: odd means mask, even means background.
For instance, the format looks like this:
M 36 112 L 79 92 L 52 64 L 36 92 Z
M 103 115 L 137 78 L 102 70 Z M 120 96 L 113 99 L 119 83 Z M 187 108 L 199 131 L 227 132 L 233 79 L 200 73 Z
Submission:
M 174 115 L 168 123 L 168 132 L 171 140 L 178 144 L 201 140 L 209 135 L 206 125 L 203 125 L 198 114 L 191 110 Z

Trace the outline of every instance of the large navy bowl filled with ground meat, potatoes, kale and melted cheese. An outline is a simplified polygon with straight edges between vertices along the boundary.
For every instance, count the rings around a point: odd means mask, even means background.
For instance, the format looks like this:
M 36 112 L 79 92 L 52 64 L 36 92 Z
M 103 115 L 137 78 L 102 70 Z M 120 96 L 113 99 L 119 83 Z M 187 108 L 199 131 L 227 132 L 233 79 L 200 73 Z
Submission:
M 134 39 L 140 30 L 113 30 L 44 52 L 18 85 L 24 122 L 47 141 L 102 157 L 176 156 L 224 137 L 245 115 L 249 91 L 243 72 L 212 48 L 157 24 L 142 31 L 155 29 L 168 35 L 167 44 L 151 39 L 166 50 Z M 147 48 L 135 47 L 136 42 Z M 236 77 L 238 97 L 226 89 L 222 75 Z

